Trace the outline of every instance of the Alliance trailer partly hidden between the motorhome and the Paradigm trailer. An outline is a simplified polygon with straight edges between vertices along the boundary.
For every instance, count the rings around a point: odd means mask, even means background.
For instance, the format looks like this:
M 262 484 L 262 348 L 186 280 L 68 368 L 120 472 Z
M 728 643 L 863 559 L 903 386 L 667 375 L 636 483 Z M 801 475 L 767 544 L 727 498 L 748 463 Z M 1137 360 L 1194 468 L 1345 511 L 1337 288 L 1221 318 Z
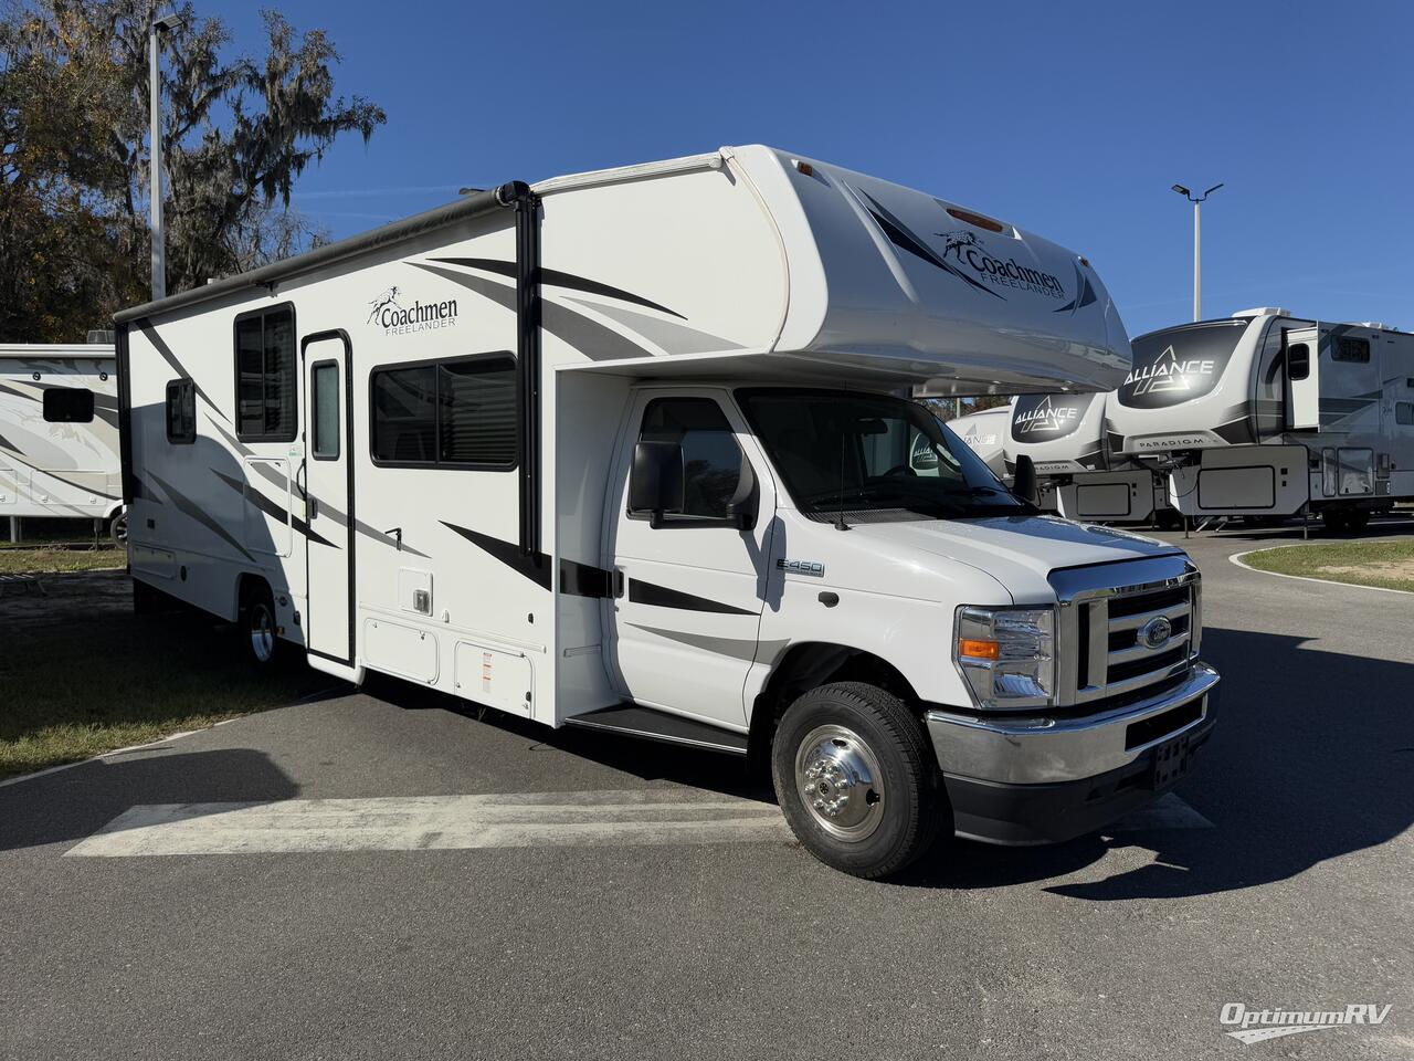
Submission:
M 1168 478 L 1116 453 L 1106 434 L 1103 395 L 1022 395 L 1011 406 L 1004 437 L 1005 465 L 1029 457 L 1038 504 L 1066 519 L 1100 523 L 1168 522 Z

